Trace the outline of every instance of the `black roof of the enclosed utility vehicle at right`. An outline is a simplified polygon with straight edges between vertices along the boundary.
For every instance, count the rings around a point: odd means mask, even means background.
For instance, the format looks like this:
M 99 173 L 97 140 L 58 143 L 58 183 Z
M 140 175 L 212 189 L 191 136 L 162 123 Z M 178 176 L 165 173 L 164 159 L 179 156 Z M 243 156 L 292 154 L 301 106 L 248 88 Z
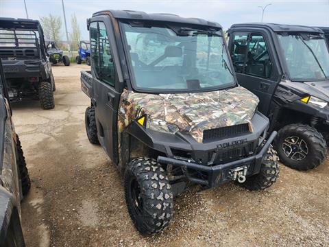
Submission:
M 287 25 L 287 24 L 276 24 L 276 23 L 241 23 L 234 24 L 232 27 L 267 27 L 273 32 L 315 32 L 322 33 L 318 27 L 308 27 L 303 25 Z

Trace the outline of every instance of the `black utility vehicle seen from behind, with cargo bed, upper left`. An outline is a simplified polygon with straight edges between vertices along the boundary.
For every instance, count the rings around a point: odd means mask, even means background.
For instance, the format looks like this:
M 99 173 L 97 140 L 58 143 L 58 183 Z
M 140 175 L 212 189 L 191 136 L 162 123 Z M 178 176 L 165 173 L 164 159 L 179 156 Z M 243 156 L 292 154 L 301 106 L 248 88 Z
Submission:
M 39 21 L 0 18 L 0 58 L 11 101 L 39 99 L 42 108 L 55 107 L 55 80 Z

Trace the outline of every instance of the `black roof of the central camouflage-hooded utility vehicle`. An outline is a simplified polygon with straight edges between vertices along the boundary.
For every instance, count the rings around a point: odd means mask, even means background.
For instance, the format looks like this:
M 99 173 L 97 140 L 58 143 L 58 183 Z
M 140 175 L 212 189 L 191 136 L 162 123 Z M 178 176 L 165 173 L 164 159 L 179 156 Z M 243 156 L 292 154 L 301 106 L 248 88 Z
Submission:
M 204 19 L 197 18 L 184 18 L 176 14 L 147 14 L 141 11 L 134 10 L 102 10 L 93 14 L 93 16 L 98 16 L 101 14 L 112 14 L 116 19 L 130 19 L 130 20 L 145 20 L 145 21 L 169 21 L 172 23 L 186 23 L 194 25 L 207 25 L 209 27 L 219 27 L 221 25 L 216 22 L 206 21 Z

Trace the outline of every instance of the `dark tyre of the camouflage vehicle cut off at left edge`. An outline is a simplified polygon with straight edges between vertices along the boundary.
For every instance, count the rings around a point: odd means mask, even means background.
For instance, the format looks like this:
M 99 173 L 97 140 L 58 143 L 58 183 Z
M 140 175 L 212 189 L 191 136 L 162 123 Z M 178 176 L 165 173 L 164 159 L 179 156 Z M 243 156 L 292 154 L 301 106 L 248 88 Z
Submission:
M 27 171 L 25 157 L 23 154 L 21 141 L 19 141 L 19 135 L 16 134 L 16 148 L 17 148 L 17 165 L 19 167 L 19 174 L 21 177 L 21 183 L 22 183 L 22 193 L 23 196 L 29 192 L 29 189 L 31 188 L 31 180 L 29 179 L 29 172 Z

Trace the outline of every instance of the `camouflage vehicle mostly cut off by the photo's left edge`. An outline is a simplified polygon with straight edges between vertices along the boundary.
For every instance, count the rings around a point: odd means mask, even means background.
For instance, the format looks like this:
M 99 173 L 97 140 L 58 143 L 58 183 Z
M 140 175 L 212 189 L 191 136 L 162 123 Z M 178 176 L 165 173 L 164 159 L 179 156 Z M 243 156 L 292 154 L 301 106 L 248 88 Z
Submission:
M 0 247 L 25 246 L 21 200 L 31 186 L 0 60 Z

